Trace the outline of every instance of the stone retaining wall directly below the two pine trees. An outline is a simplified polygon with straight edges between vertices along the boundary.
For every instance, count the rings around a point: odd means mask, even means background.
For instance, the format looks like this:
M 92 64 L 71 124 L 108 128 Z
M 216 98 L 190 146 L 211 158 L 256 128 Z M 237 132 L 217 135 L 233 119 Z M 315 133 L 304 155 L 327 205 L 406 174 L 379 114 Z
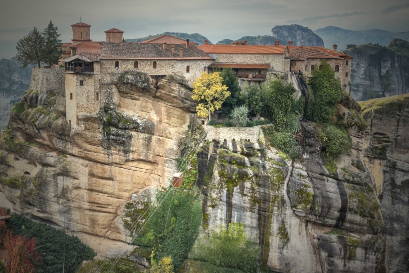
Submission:
M 33 68 L 31 74 L 30 89 L 45 94 L 50 90 L 54 93 L 63 94 L 65 87 L 64 68 Z

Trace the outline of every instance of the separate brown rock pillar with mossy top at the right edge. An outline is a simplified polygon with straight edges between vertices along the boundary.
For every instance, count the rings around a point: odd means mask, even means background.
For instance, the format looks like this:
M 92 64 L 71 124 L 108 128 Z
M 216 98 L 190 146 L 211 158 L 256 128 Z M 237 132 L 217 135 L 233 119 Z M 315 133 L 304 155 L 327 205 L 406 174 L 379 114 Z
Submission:
M 409 270 L 409 95 L 362 104 L 363 154 L 381 200 L 388 272 Z

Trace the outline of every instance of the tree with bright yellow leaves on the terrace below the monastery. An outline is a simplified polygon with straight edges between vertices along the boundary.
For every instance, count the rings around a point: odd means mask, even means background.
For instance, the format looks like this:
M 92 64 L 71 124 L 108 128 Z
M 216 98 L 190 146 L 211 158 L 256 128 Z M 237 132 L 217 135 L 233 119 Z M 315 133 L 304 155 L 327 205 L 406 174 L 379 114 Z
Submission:
M 223 101 L 230 96 L 227 86 L 222 83 L 223 78 L 220 77 L 220 72 L 210 74 L 203 72 L 193 83 L 194 95 L 192 98 L 199 101 L 199 105 L 196 107 L 198 116 L 208 116 L 208 121 L 210 121 L 210 113 L 220 109 Z

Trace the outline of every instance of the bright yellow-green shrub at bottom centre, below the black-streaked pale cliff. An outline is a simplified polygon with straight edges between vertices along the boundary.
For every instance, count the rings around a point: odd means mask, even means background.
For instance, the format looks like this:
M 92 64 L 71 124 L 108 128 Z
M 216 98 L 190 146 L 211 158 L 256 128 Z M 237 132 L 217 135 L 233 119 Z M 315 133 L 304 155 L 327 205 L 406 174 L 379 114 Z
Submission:
M 191 257 L 218 267 L 257 272 L 259 252 L 258 245 L 246 239 L 244 225 L 231 223 L 228 228 L 220 227 L 218 231 L 199 239 Z

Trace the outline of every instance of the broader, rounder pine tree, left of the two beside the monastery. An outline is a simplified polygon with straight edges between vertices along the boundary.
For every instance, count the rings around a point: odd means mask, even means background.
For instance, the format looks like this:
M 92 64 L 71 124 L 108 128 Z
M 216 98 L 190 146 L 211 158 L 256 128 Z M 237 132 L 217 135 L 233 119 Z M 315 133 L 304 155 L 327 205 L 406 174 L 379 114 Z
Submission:
M 17 59 L 22 68 L 28 64 L 37 64 L 40 67 L 41 49 L 44 47 L 44 37 L 34 26 L 33 30 L 17 42 Z

